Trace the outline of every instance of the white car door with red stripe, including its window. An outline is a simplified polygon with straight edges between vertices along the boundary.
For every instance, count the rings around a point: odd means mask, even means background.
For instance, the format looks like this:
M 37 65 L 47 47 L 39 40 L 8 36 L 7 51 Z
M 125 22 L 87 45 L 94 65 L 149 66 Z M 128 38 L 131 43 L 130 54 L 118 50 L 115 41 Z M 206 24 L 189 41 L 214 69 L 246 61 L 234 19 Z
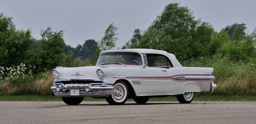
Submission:
M 165 68 L 165 65 L 168 66 L 167 59 L 159 54 L 146 54 L 144 55 L 144 62 L 147 63 L 148 66 L 141 68 L 143 77 L 142 93 L 151 95 L 168 93 L 168 68 Z

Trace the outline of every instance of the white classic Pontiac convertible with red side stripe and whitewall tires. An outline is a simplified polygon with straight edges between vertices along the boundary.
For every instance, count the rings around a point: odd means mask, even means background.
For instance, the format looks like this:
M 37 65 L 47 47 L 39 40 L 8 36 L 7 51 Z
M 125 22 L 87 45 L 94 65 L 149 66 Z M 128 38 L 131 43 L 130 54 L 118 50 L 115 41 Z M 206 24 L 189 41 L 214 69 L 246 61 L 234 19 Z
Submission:
M 150 97 L 175 95 L 191 103 L 194 92 L 213 91 L 213 68 L 183 67 L 175 55 L 154 49 L 107 50 L 95 66 L 56 67 L 51 89 L 64 103 L 76 105 L 84 97 L 105 98 L 109 104 L 138 104 Z

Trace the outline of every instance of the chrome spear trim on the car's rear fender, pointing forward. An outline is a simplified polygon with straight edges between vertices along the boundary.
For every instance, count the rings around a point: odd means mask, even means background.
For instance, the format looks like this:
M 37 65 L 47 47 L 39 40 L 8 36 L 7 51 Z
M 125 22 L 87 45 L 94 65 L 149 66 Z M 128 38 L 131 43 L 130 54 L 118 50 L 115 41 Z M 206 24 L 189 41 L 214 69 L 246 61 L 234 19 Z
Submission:
M 175 80 L 212 80 L 214 76 L 175 76 Z

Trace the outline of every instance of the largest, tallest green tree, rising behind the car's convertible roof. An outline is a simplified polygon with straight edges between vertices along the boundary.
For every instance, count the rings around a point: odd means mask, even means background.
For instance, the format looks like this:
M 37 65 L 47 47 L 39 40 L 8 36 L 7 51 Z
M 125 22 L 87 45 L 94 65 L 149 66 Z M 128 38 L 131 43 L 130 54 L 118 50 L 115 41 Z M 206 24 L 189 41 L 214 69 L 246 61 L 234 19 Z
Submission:
M 179 3 L 167 5 L 160 16 L 142 35 L 139 46 L 174 53 L 178 58 L 187 59 L 192 34 L 198 24 L 193 12 Z

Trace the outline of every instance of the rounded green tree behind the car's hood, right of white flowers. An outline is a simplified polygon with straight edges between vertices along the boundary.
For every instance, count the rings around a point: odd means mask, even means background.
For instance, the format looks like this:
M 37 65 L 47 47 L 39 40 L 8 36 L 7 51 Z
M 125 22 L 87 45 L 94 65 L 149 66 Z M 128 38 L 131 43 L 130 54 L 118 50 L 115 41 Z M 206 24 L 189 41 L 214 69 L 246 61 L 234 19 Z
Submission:
M 38 71 L 60 66 L 65 55 L 64 31 L 52 31 L 51 27 L 41 31 L 42 39 L 37 42 Z

